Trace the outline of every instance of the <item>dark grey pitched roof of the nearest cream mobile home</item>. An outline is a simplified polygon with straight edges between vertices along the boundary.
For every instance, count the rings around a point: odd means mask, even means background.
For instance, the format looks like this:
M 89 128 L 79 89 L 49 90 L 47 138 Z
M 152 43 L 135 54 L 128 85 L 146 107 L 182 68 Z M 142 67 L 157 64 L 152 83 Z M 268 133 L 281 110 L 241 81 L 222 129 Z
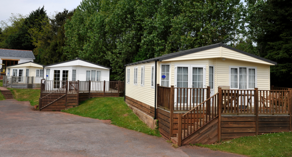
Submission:
M 142 61 L 135 62 L 135 63 L 126 64 L 125 66 L 135 65 L 135 64 L 141 64 L 141 63 L 149 63 L 149 62 L 152 62 L 152 61 L 162 61 L 162 60 L 171 59 L 171 58 L 175 58 L 175 57 L 179 57 L 179 56 L 184 56 L 184 55 L 187 55 L 187 54 L 196 53 L 196 52 L 200 52 L 200 51 L 204 51 L 204 50 L 208 50 L 208 49 L 213 49 L 213 48 L 221 47 L 221 46 L 222 47 L 225 47 L 227 49 L 231 49 L 233 51 L 236 51 L 236 52 L 245 54 L 247 56 L 251 56 L 253 58 L 257 58 L 259 60 L 263 60 L 265 62 L 268 62 L 268 63 L 272 63 L 274 65 L 277 65 L 277 62 L 274 62 L 272 60 L 268 60 L 268 59 L 265 59 L 265 58 L 262 58 L 262 57 L 253 55 L 251 53 L 247 53 L 247 52 L 241 51 L 239 49 L 235 49 L 233 47 L 227 46 L 227 45 L 225 45 L 225 44 L 223 44 L 223 43 L 220 42 L 220 43 L 217 43 L 217 44 L 212 44 L 212 45 L 208 45 L 208 46 L 198 47 L 198 48 L 195 48 L 195 49 L 189 49 L 189 50 L 185 50 L 185 51 L 180 51 L 180 52 L 175 52 L 175 53 L 169 53 L 169 54 L 166 54 L 166 55 L 162 55 L 160 57 L 151 58 L 151 59 L 142 60 Z

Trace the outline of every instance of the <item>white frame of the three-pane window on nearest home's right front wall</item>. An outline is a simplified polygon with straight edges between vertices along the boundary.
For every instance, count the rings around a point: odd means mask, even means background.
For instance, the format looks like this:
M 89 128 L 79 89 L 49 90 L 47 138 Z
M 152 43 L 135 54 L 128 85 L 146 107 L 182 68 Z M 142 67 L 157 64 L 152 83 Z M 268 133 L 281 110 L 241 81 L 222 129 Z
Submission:
M 237 88 L 231 88 L 231 68 L 237 69 Z M 239 68 L 246 68 L 246 89 L 241 90 L 254 90 L 254 88 L 248 88 L 248 69 L 255 69 L 255 88 L 257 88 L 257 67 L 246 67 L 246 66 L 229 66 L 229 86 L 230 89 L 239 90 Z

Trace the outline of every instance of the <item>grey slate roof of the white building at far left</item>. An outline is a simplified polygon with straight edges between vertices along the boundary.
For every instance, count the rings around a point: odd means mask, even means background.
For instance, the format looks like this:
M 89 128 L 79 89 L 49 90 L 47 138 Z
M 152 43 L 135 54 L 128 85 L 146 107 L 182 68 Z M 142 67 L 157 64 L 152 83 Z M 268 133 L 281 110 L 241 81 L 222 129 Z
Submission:
M 27 50 L 12 50 L 12 49 L 0 49 L 0 57 L 13 57 L 13 58 L 32 58 L 34 57 L 34 53 L 32 51 Z

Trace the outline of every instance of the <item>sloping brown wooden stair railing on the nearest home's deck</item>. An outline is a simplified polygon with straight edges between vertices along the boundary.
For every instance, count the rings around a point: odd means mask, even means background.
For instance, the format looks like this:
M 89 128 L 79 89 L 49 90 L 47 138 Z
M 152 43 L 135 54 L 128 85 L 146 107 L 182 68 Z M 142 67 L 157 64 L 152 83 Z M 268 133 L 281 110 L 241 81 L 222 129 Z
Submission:
M 178 116 L 178 145 L 188 135 L 200 129 L 204 124 L 218 116 L 218 95 L 214 94 L 201 104 Z

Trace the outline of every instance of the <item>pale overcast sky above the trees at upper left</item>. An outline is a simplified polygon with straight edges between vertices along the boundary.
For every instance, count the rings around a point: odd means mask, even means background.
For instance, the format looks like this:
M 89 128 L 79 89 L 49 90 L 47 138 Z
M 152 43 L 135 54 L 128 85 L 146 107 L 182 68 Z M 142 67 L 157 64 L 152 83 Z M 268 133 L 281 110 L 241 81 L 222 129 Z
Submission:
M 45 6 L 47 14 L 55 11 L 72 10 L 76 8 L 82 0 L 1 0 L 0 21 L 7 20 L 11 13 L 27 15 L 39 7 Z

